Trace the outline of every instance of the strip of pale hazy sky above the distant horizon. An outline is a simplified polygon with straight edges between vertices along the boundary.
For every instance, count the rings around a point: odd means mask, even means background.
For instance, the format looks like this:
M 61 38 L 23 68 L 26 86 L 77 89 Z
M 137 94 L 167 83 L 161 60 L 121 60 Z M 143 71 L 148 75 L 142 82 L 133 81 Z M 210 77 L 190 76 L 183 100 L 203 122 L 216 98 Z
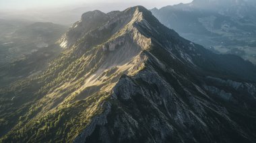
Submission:
M 147 8 L 163 7 L 178 3 L 189 3 L 192 0 L 0 0 L 0 9 L 32 9 L 44 7 L 65 7 L 79 4 L 97 3 L 133 3 Z

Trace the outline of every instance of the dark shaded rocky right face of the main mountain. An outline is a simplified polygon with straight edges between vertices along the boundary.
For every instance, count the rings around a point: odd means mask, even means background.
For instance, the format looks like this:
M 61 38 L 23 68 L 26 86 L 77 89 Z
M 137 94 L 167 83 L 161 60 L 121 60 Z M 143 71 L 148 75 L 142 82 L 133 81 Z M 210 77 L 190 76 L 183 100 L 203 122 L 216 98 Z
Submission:
M 108 115 L 94 123 L 94 132 L 86 128 L 75 142 L 253 142 L 255 134 L 244 132 L 236 109 L 254 110 L 255 95 L 249 88 L 255 84 L 195 76 L 193 72 L 203 68 L 196 58 L 206 58 L 203 49 L 171 30 L 165 33 L 151 20 L 135 25 L 152 40 L 151 50 L 143 52 L 146 67 L 119 79 L 108 101 Z M 150 33 L 153 28 L 156 33 Z

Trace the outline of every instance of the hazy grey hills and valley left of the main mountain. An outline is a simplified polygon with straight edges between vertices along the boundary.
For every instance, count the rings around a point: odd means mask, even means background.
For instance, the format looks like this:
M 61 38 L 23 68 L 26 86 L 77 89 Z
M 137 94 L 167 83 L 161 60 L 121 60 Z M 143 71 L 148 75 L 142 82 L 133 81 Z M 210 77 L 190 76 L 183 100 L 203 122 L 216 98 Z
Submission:
M 61 53 L 55 42 L 68 29 L 54 23 L 7 20 L 0 27 L 0 87 L 44 70 Z

